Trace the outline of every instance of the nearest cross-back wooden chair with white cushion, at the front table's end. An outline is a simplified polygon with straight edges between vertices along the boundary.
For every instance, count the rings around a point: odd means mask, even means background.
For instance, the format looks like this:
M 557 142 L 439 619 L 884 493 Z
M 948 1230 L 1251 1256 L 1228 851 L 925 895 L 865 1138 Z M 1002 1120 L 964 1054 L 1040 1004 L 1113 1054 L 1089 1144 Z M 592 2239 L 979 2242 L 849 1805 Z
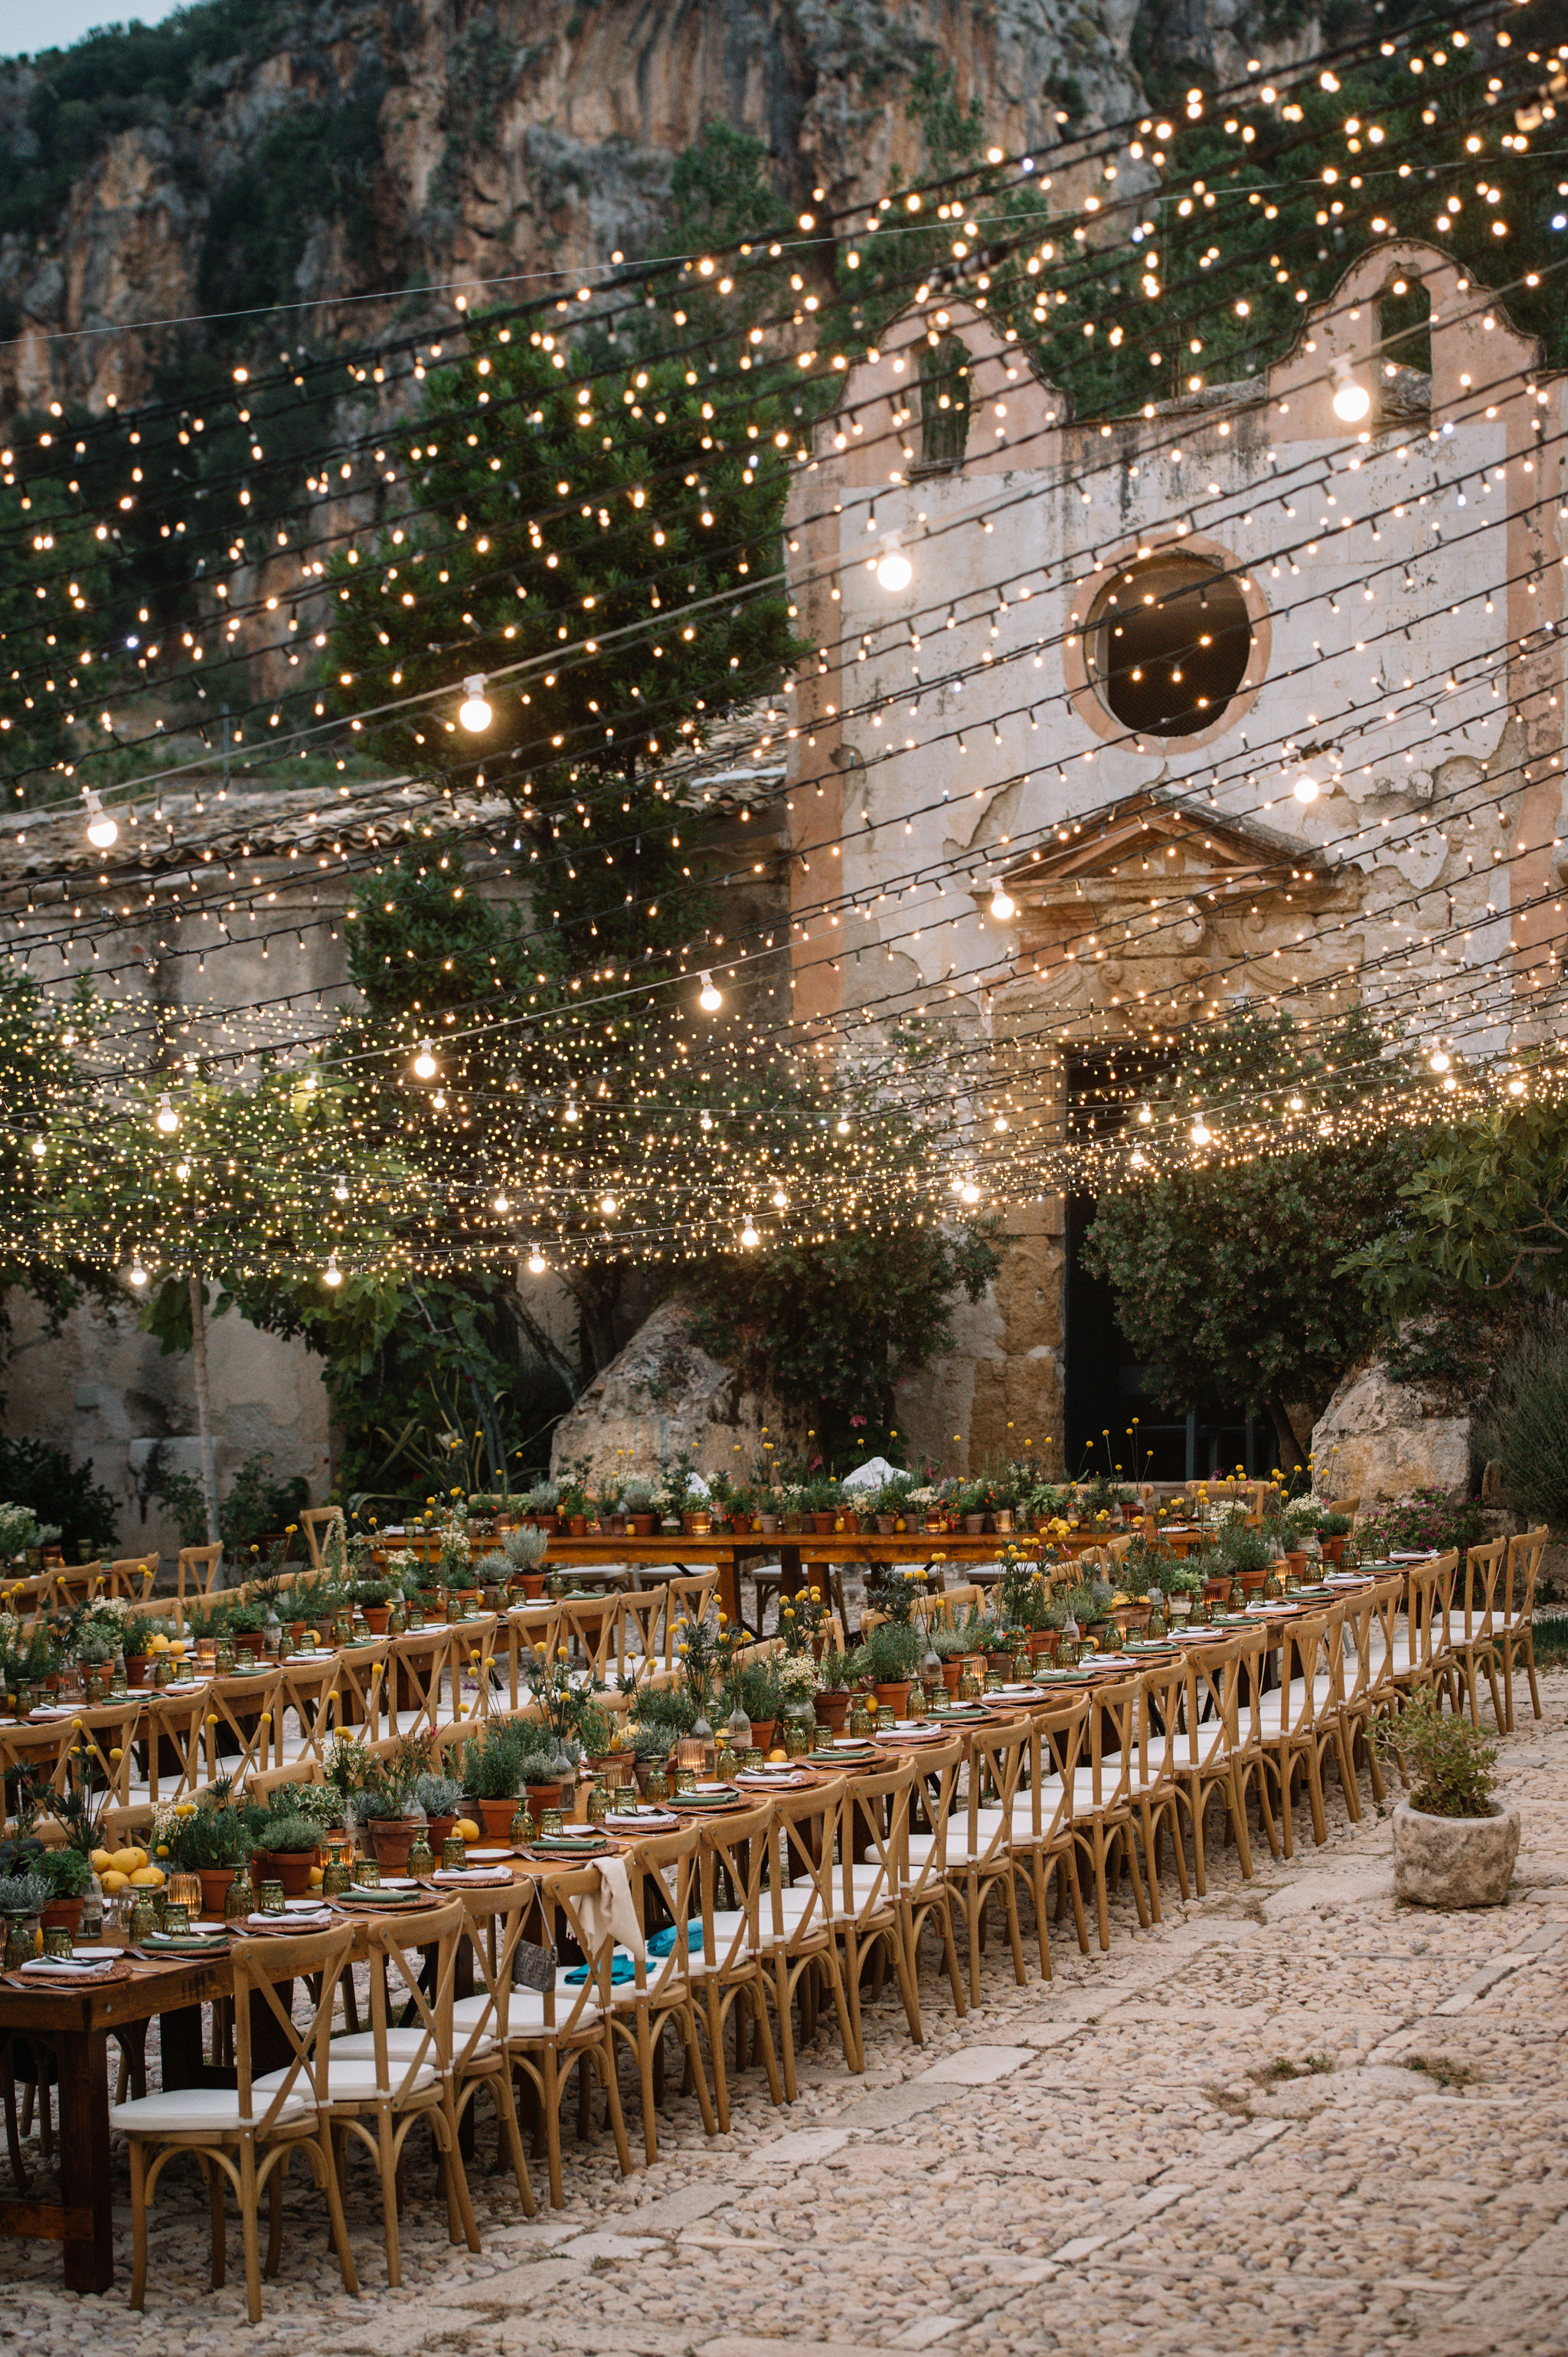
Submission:
M 261 2194 L 268 2199 L 266 2272 L 275 2275 L 283 2256 L 283 2178 L 294 2152 L 306 2154 L 315 2183 L 327 2194 L 332 2249 L 344 2291 L 358 2296 L 344 2201 L 323 2121 L 332 2072 L 332 2006 L 351 1947 L 351 1923 L 299 1940 L 238 1940 L 231 1952 L 235 2086 L 162 2088 L 111 2110 L 111 2131 L 129 2138 L 132 2308 L 146 2303 L 146 2213 L 158 2178 L 177 2152 L 193 2152 L 207 2178 L 214 2291 L 224 2282 L 224 2185 L 233 2187 L 245 2237 L 245 2305 L 252 2324 L 261 2322 L 257 2201 Z M 292 2006 L 278 1994 L 280 1987 L 292 1994 L 294 1980 L 308 1980 L 320 1989 L 304 2025 L 294 2022 Z M 252 2006 L 268 2015 L 271 2036 L 290 2055 L 283 2069 L 266 2077 L 252 2072 Z

